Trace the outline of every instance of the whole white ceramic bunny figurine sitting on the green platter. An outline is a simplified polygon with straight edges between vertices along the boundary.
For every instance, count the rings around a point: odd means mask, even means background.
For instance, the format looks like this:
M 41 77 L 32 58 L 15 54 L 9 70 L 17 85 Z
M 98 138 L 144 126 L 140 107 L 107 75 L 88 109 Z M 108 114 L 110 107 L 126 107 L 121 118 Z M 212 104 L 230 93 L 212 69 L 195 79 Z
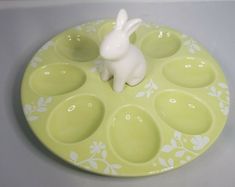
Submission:
M 134 86 L 146 73 L 146 62 L 142 52 L 130 44 L 130 35 L 140 26 L 141 19 L 128 20 L 127 12 L 121 9 L 116 26 L 102 41 L 100 55 L 105 59 L 101 68 L 101 79 L 113 80 L 113 89 L 121 92 L 125 83 Z

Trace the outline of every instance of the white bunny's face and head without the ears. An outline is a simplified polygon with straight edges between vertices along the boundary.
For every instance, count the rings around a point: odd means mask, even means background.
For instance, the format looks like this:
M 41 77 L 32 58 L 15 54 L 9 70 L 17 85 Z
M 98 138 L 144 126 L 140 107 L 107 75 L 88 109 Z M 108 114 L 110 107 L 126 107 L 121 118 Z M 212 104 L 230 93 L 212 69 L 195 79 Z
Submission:
M 114 30 L 108 34 L 100 46 L 100 55 L 107 60 L 117 60 L 129 48 L 129 37 L 124 32 Z

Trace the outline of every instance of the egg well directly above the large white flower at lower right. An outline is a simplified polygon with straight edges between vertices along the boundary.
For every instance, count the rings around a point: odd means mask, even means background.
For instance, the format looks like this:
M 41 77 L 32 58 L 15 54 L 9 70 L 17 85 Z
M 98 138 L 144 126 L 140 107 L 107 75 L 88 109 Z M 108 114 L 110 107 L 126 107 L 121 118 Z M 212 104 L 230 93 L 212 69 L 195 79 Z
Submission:
M 178 91 L 157 95 L 155 108 L 169 126 L 186 134 L 204 133 L 212 124 L 212 116 L 204 104 Z

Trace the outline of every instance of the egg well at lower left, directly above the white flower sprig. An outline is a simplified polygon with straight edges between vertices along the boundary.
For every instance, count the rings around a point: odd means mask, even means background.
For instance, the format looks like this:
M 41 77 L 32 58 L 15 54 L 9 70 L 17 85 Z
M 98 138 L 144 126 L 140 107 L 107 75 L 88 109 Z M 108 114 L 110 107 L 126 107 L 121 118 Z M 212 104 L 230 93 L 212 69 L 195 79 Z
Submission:
M 59 104 L 48 120 L 49 133 L 63 143 L 76 143 L 93 134 L 104 116 L 103 103 L 94 96 L 76 96 Z

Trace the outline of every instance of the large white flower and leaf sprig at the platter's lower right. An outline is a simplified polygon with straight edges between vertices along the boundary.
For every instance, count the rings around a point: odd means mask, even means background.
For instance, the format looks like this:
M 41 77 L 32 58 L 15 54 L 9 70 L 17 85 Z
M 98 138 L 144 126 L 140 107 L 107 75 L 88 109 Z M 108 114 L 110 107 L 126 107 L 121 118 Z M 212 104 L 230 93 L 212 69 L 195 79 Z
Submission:
M 168 159 L 163 156 L 159 157 L 159 163 L 163 170 L 173 169 L 176 160 L 180 164 L 186 163 L 192 157 L 199 155 L 199 151 L 204 149 L 208 143 L 209 138 L 207 136 L 195 135 L 188 139 L 181 132 L 175 131 L 170 143 L 164 145 L 161 149 L 162 153 L 174 156 Z

